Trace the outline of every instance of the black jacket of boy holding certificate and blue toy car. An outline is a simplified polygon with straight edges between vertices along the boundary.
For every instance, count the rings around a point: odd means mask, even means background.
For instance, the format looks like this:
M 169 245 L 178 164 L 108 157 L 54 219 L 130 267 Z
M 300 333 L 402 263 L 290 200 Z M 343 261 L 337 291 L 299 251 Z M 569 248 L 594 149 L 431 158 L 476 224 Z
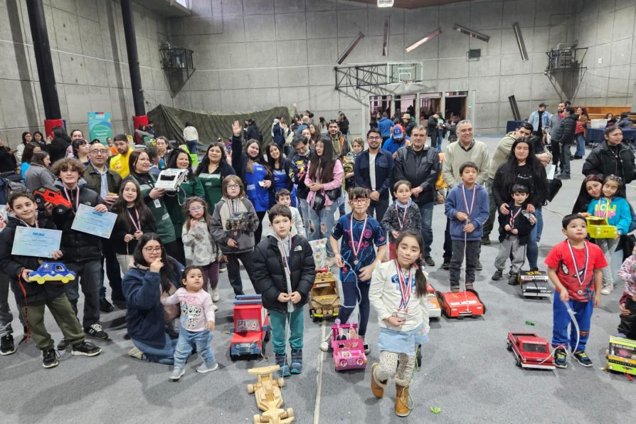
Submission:
M 42 215 L 38 219 L 38 226 L 48 230 L 56 230 L 55 224 Z M 0 270 L 9 275 L 11 290 L 16 295 L 16 303 L 20 306 L 24 306 L 25 301 L 27 305 L 36 304 L 62 295 L 64 293 L 63 284 L 55 284 L 53 282 L 38 284 L 37 282 L 27 282 L 18 279 L 18 275 L 21 274 L 23 268 L 37 270 L 41 261 L 54 261 L 50 258 L 11 255 L 16 236 L 16 227 L 18 226 L 26 227 L 18 218 L 9 216 L 6 228 L 0 233 Z M 63 257 L 62 260 L 65 260 L 65 258 Z

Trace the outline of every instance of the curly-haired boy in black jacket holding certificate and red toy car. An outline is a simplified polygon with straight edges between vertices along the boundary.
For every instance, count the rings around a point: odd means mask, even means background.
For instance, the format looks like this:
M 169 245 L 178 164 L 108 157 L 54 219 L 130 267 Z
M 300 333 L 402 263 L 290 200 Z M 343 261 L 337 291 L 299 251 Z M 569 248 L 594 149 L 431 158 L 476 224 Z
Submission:
M 97 235 L 73 230 L 71 227 L 80 204 L 90 206 L 95 212 L 100 213 L 108 211 L 108 208 L 100 195 L 86 186 L 86 181 L 82 179 L 84 166 L 77 159 L 65 158 L 55 162 L 53 174 L 55 187 L 60 189 L 60 194 L 71 204 L 71 207 L 63 213 L 53 209 L 53 222 L 58 230 L 62 231 L 60 250 L 63 253 L 64 263 L 69 270 L 75 272 L 79 280 L 73 280 L 64 285 L 66 295 L 73 305 L 75 314 L 78 314 L 79 286 L 82 287 L 84 332 L 94 339 L 107 339 L 108 334 L 100 325 L 101 240 Z M 58 344 L 58 350 L 66 349 L 66 346 L 68 341 L 62 339 Z

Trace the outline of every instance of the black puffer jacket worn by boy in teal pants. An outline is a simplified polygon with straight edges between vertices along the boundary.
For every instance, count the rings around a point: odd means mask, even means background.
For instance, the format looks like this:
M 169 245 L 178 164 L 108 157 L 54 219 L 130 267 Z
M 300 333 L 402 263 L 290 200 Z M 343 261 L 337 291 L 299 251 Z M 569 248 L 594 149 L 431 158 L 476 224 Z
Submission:
M 300 293 L 301 300 L 294 305 L 295 309 L 300 309 L 309 299 L 309 291 L 312 290 L 316 279 L 316 265 L 314 265 L 312 248 L 306 238 L 301 235 L 292 237 L 291 250 L 290 282 L 292 292 Z M 287 312 L 287 304 L 278 302 L 278 295 L 287 293 L 289 290 L 287 290 L 285 278 L 287 271 L 282 265 L 278 240 L 272 235 L 261 240 L 254 249 L 252 261 L 252 282 L 254 290 L 263 297 L 263 306 L 284 314 Z

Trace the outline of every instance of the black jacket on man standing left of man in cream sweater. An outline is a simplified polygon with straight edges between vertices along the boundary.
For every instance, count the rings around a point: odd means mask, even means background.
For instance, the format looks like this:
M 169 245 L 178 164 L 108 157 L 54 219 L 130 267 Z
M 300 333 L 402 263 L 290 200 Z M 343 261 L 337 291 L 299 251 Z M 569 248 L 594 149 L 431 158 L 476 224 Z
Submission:
M 440 156 L 435 149 L 424 147 L 415 152 L 411 146 L 401 147 L 396 155 L 391 185 L 406 179 L 411 188 L 420 186 L 423 189 L 420 196 L 413 197 L 413 201 L 418 205 L 430 203 L 435 200 L 435 181 L 440 170 Z

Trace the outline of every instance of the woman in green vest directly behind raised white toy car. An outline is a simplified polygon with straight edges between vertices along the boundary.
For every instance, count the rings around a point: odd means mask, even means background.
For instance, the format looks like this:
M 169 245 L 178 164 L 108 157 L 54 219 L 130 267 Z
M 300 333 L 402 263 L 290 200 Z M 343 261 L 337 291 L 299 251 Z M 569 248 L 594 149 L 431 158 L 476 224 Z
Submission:
M 192 171 L 192 158 L 190 154 L 183 149 L 173 150 L 170 154 L 168 161 L 169 169 L 186 169 L 188 176 L 184 182 L 181 183 L 177 191 L 167 192 L 164 196 L 166 202 L 166 208 L 170 215 L 172 225 L 174 226 L 174 235 L 176 236 L 176 244 L 179 248 L 179 254 L 174 258 L 181 263 L 186 263 L 186 256 L 184 253 L 184 242 L 181 240 L 181 231 L 184 228 L 184 211 L 183 204 L 186 198 L 192 196 L 203 197 L 203 186 L 201 186 L 201 180 L 194 176 Z

